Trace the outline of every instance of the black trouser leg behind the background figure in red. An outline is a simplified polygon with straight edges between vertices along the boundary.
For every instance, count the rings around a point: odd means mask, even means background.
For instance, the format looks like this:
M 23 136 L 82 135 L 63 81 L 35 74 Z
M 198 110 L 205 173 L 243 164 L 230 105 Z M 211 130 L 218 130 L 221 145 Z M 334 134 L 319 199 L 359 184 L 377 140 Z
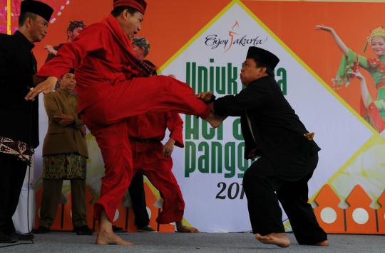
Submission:
M 148 226 L 150 224 L 150 218 L 148 217 L 147 207 L 145 205 L 145 191 L 142 173 L 135 174 L 130 187 L 128 187 L 128 193 L 130 193 L 131 202 L 133 203 L 135 226 L 138 228 Z

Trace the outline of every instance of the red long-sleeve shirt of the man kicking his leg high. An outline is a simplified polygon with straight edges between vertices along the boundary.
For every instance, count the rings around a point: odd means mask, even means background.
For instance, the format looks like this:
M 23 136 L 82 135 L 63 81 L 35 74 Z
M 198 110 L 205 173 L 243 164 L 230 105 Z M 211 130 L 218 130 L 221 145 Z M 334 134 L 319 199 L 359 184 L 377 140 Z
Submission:
M 58 55 L 36 74 L 58 79 L 75 68 L 78 112 L 108 96 L 110 88 L 117 82 L 133 77 L 145 76 L 133 58 L 132 45 L 113 16 L 101 23 L 83 29 L 76 41 L 66 43 Z

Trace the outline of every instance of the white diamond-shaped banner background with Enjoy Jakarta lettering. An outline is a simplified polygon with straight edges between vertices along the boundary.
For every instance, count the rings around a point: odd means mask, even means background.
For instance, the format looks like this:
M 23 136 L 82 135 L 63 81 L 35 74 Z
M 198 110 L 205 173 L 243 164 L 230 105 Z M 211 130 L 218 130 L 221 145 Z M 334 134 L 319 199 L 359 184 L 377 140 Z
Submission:
M 233 43 L 230 48 L 231 34 Z M 250 39 L 249 43 L 245 40 L 240 41 L 239 39 L 242 37 Z M 217 38 L 217 41 L 220 39 L 222 44 L 215 48 L 212 40 L 207 40 L 207 38 Z M 257 40 L 252 40 L 253 38 L 257 38 Z M 259 40 L 261 43 L 254 43 Z M 212 66 L 226 67 L 226 77 L 227 64 L 231 63 L 233 68 L 237 68 L 237 91 L 239 92 L 242 89 L 239 80 L 240 68 L 250 45 L 270 50 L 280 58 L 276 70 L 279 68 L 286 70 L 287 95 L 285 97 L 292 104 L 307 129 L 316 133 L 315 140 L 321 146 L 322 151 L 319 152 L 317 170 L 309 182 L 309 196 L 313 195 L 347 161 L 351 154 L 354 154 L 369 139 L 371 131 L 347 107 L 344 107 L 304 65 L 299 63 L 295 55 L 290 53 L 289 48 L 286 48 L 279 38 L 275 38 L 274 34 L 244 6 L 235 3 L 225 13 L 220 14 L 211 26 L 190 41 L 183 52 L 175 55 L 174 60 L 163 69 L 162 74 L 173 74 L 179 80 L 191 83 L 190 80 L 186 80 L 187 63 L 191 63 L 191 65 L 196 63 L 197 66 L 204 66 L 207 70 Z M 210 63 L 210 59 L 214 59 L 214 63 Z M 207 78 L 210 80 L 210 71 L 207 72 Z M 276 75 L 277 81 L 283 79 L 282 72 L 280 75 Z M 216 81 L 216 78 L 217 76 L 213 77 L 213 80 Z M 198 77 L 196 80 L 198 84 L 200 82 Z M 196 87 L 196 92 L 199 91 Z M 217 97 L 222 96 L 217 94 L 217 90 L 212 90 L 212 92 Z M 225 95 L 228 94 L 229 92 L 226 90 Z M 235 159 L 237 165 L 239 161 L 237 156 L 243 156 L 243 152 L 240 153 L 238 150 L 235 151 L 235 154 L 225 153 L 226 143 L 235 142 L 238 146 L 242 142 L 237 141 L 232 134 L 232 124 L 235 120 L 235 117 L 229 117 L 223 124 L 223 140 L 220 140 L 223 150 L 223 165 L 226 160 L 229 161 L 228 159 Z M 190 140 L 189 136 L 185 136 L 187 143 L 193 141 L 198 146 L 202 142 L 207 142 L 210 146 L 211 141 L 217 141 L 217 136 L 212 140 L 203 139 L 201 120 L 199 126 L 200 139 Z M 350 136 L 354 136 L 354 138 Z M 198 151 L 197 149 L 196 157 L 191 157 L 190 152 L 186 154 L 186 149 L 176 149 L 173 155 L 173 171 L 185 198 L 186 220 L 204 232 L 251 230 L 246 197 L 240 199 L 242 195 L 240 190 L 235 199 L 229 198 L 229 194 L 230 197 L 235 196 L 237 185 L 242 184 L 242 178 L 238 177 L 238 173 L 242 173 L 239 168 L 235 168 L 236 173 L 232 178 L 225 178 L 224 174 L 228 173 L 225 168 L 222 168 L 222 173 L 201 173 L 199 168 L 195 168 L 190 176 L 185 176 L 185 171 L 188 169 L 185 167 L 185 160 L 195 159 L 196 165 L 199 166 L 198 159 L 205 155 L 204 152 L 204 150 Z M 209 171 L 211 171 L 211 149 L 208 154 L 210 154 L 210 158 L 206 157 L 206 159 L 209 160 Z M 220 194 L 225 195 L 225 199 L 216 198 L 223 188 L 223 184 L 220 182 L 226 185 L 224 192 Z M 286 218 L 284 215 L 282 220 L 286 220 Z

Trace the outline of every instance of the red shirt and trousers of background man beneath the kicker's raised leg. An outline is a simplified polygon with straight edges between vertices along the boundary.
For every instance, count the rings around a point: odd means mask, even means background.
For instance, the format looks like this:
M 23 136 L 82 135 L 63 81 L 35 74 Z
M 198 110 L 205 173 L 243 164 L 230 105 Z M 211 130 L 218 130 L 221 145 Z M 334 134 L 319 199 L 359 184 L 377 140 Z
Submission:
M 163 198 L 162 212 L 157 222 L 168 224 L 183 219 L 185 202 L 179 185 L 173 174 L 173 159 L 163 156 L 165 131 L 170 131 L 170 138 L 175 146 L 183 144 L 183 121 L 175 112 L 149 112 L 128 119 L 128 133 L 133 150 L 134 174 L 137 171 L 147 176 Z

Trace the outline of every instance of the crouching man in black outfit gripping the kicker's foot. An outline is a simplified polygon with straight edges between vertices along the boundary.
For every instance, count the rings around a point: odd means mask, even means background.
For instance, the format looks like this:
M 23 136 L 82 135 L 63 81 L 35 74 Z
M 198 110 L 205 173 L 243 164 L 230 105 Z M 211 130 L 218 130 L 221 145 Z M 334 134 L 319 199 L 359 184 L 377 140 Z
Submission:
M 210 92 L 198 97 L 213 102 L 219 116 L 240 116 L 245 158 L 259 157 L 243 178 L 255 237 L 262 243 L 289 247 L 279 201 L 299 244 L 327 246 L 327 234 L 307 203 L 307 181 L 320 149 L 274 80 L 278 62 L 269 51 L 250 47 L 240 74 L 244 90 L 216 100 Z

